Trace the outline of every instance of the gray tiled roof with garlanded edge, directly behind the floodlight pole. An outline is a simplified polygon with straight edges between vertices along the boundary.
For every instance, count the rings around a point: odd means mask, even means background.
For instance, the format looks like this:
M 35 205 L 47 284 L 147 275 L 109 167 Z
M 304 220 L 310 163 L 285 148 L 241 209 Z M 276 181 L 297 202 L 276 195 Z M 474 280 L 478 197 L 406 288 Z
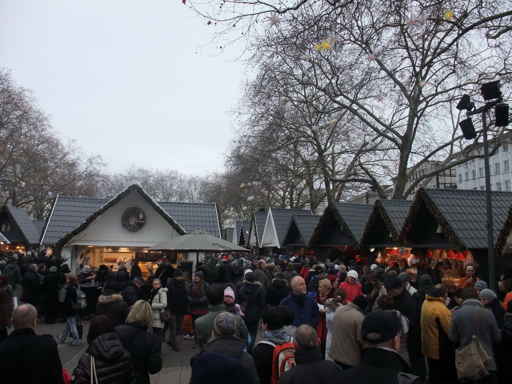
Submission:
M 491 199 L 494 240 L 496 242 L 512 206 L 512 193 L 493 191 Z M 445 237 L 450 240 L 457 250 L 487 248 L 485 191 L 420 188 L 411 208 L 411 213 L 403 225 L 402 237 L 409 236 L 409 232 L 421 225 L 418 222 L 424 217 L 419 217 L 421 204 L 426 205 L 430 214 L 437 220 L 438 225 L 443 228 Z M 420 214 L 417 212 L 420 212 Z M 433 226 L 431 227 L 432 230 L 435 230 Z

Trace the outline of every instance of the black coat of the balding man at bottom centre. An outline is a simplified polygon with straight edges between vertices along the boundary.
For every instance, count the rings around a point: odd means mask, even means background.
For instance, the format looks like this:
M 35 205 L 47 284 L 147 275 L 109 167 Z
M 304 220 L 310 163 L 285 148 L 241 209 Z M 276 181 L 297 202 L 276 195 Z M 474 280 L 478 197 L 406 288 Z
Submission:
M 279 377 L 279 384 L 331 384 L 349 382 L 333 380 L 333 378 L 342 371 L 342 367 L 338 366 L 334 361 L 324 360 L 320 347 L 296 350 L 295 364 L 295 367 L 283 372 Z

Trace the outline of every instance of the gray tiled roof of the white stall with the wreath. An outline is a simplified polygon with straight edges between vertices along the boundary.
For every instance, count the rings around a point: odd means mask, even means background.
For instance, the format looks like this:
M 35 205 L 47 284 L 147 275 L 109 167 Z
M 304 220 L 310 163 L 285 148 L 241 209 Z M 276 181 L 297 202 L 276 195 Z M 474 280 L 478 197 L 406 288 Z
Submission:
M 180 234 L 193 231 L 196 227 L 220 238 L 220 226 L 216 204 L 155 202 L 137 184 L 132 184 L 112 199 L 57 196 L 52 211 L 47 218 L 42 233 L 41 244 L 55 244 L 69 233 L 85 224 L 87 227 L 94 219 L 92 216 L 103 214 L 106 209 L 117 203 L 122 197 L 136 189 L 166 221 Z M 178 224 L 179 223 L 179 224 Z M 178 230 L 179 229 L 179 230 Z M 79 233 L 79 232 L 77 232 Z

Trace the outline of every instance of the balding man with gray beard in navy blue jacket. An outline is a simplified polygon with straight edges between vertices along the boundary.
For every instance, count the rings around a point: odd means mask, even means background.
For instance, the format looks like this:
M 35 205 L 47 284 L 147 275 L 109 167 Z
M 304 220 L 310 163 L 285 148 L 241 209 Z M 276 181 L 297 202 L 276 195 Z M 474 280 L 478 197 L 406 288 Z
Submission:
M 291 279 L 292 292 L 281 300 L 279 305 L 286 305 L 293 311 L 294 327 L 307 324 L 313 328 L 318 325 L 318 305 L 313 297 L 306 294 L 306 282 L 301 276 Z

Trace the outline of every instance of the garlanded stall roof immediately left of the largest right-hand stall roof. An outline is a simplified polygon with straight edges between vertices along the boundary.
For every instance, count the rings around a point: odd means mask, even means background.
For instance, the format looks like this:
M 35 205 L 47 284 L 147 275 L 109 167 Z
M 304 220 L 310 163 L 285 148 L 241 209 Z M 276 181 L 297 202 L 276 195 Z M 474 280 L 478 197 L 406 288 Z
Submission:
M 396 246 L 413 202 L 411 200 L 377 200 L 361 238 L 366 247 Z

